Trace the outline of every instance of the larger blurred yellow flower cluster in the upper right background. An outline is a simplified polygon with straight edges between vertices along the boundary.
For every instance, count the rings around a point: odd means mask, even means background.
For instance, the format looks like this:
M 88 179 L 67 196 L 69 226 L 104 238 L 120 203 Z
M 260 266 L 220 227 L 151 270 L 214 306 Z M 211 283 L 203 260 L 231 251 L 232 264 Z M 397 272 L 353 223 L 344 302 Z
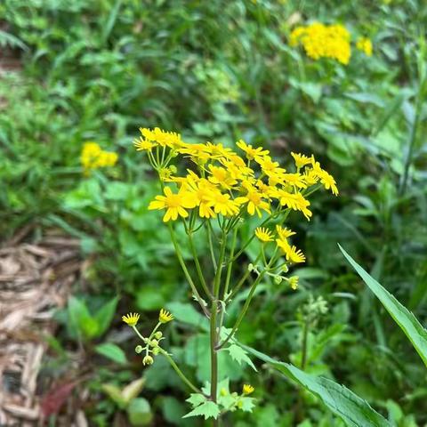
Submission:
M 350 61 L 350 32 L 340 24 L 324 25 L 313 22 L 294 28 L 290 36 L 291 46 L 302 44 L 313 60 L 330 58 L 344 65 Z

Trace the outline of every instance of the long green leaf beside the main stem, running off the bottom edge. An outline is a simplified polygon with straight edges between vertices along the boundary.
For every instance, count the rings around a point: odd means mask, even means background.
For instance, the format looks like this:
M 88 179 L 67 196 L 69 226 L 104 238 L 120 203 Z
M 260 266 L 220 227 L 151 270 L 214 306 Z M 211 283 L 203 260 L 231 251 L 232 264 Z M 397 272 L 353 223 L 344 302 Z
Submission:
M 294 365 L 271 359 L 266 354 L 246 347 L 246 345 L 242 345 L 242 347 L 310 391 L 335 415 L 341 417 L 347 425 L 351 427 L 391 427 L 383 415 L 378 414 L 370 407 L 366 400 L 359 398 L 358 395 L 344 386 L 321 376 L 306 374 Z

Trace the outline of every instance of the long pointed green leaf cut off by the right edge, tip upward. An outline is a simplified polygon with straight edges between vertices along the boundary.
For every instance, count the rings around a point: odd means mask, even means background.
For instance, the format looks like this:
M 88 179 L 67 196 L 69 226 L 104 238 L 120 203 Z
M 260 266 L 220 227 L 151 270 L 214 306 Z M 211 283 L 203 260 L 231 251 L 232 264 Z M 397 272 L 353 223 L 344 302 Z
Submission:
M 369 286 L 375 296 L 381 301 L 385 310 L 389 312 L 391 317 L 400 326 L 402 331 L 407 335 L 409 341 L 414 345 L 415 350 L 423 359 L 427 366 L 427 331 L 423 328 L 420 322 L 415 318 L 405 306 L 403 306 L 389 291 L 381 286 L 375 278 L 370 276 L 367 271 L 363 270 L 357 262 L 355 262 L 349 254 L 347 254 L 342 246 L 338 245 L 342 254 L 350 262 L 354 270 L 356 270 L 363 281 Z

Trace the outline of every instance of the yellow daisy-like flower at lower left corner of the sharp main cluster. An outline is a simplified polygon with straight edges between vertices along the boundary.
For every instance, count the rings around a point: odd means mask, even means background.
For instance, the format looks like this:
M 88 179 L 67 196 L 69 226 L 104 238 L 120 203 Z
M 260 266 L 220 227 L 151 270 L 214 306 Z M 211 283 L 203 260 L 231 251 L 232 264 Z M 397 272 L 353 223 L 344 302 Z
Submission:
M 191 209 L 197 205 L 196 197 L 183 188 L 177 194 L 173 194 L 172 189 L 165 187 L 164 192 L 165 196 L 156 196 L 156 200 L 149 204 L 149 210 L 166 209 L 163 217 L 164 222 L 168 222 L 171 219 L 176 221 L 178 215 L 182 218 L 187 218 L 189 214 L 185 209 Z

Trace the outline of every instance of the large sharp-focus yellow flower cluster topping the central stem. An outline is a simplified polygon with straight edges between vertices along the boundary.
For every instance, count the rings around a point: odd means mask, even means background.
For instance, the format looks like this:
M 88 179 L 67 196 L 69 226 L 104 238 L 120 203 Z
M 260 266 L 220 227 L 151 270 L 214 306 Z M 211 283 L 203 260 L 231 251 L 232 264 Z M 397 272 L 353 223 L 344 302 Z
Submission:
M 261 218 L 263 213 L 278 214 L 284 209 L 300 211 L 310 220 L 310 202 L 304 195 L 311 186 L 322 184 L 338 194 L 333 176 L 313 156 L 292 153 L 295 170 L 288 173 L 268 150 L 245 141 L 237 143 L 243 157 L 222 144 L 189 144 L 179 134 L 158 128 L 141 129 L 141 135 L 134 145 L 147 152 L 164 192 L 155 197 L 149 209 L 165 210 L 164 222 L 187 218 L 189 211 L 202 219 L 245 214 Z M 190 160 L 194 170 L 177 174 L 177 167 L 170 162 L 178 156 Z

